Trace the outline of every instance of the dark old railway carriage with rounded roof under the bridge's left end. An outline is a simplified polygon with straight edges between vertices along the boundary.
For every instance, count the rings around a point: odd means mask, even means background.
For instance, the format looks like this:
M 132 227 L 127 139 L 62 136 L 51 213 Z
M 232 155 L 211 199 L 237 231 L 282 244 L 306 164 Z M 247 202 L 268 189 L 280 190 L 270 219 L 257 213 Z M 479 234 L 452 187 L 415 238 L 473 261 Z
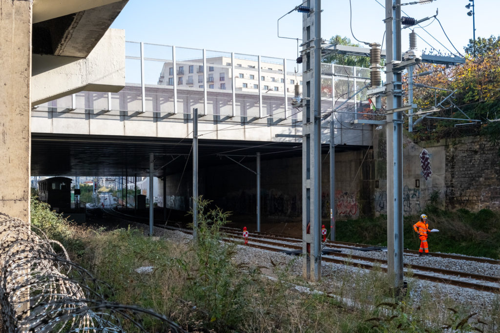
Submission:
M 55 211 L 71 208 L 71 178 L 51 177 L 38 181 L 38 197 Z

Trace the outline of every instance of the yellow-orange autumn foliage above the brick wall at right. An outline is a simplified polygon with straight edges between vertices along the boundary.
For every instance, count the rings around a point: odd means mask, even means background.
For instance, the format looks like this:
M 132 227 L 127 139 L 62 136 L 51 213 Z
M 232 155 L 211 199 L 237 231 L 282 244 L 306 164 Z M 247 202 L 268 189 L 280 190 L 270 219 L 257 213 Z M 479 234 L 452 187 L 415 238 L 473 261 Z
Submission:
M 421 64 L 414 73 L 414 82 L 454 91 L 452 98 L 442 102 L 433 116 L 465 118 L 465 113 L 471 119 L 481 120 L 482 125 L 473 126 L 475 122 L 471 122 L 472 126 L 454 127 L 459 122 L 425 120 L 414 127 L 417 139 L 483 133 L 493 141 L 500 140 L 499 126 L 488 121 L 500 118 L 500 36 L 470 40 L 464 49 L 468 53 L 464 64 L 451 67 Z M 418 76 L 426 71 L 430 74 Z M 413 102 L 418 108 L 430 108 L 444 100 L 450 91 L 415 86 Z

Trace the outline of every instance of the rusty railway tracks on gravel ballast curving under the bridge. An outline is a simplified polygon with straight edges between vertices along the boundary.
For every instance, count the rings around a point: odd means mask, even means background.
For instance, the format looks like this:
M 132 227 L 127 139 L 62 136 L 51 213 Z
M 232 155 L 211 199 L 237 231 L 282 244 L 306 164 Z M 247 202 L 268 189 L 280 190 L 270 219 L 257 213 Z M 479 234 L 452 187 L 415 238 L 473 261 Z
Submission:
M 147 218 L 140 218 L 131 215 L 125 215 L 120 212 L 116 212 L 111 208 L 105 209 L 105 212 L 111 214 L 115 217 L 123 218 L 129 220 L 134 220 L 138 222 L 144 222 Z M 192 234 L 192 230 L 165 226 L 162 223 L 155 224 L 156 227 L 162 227 L 170 230 L 178 230 L 185 233 Z M 222 232 L 224 233 L 224 240 L 238 243 L 244 245 L 241 240 L 241 230 L 223 227 Z M 251 231 L 248 237 L 248 244 L 244 246 L 250 246 L 254 248 L 260 248 L 269 251 L 277 252 L 288 252 L 293 251 L 301 253 L 302 250 L 302 239 L 297 237 L 282 236 L 264 232 Z M 372 269 L 375 265 L 379 266 L 382 270 L 386 271 L 387 260 L 380 258 L 373 258 L 365 255 L 356 255 L 352 253 L 344 253 L 343 251 L 351 250 L 363 250 L 366 248 L 373 248 L 372 245 L 367 244 L 357 244 L 348 242 L 331 242 L 327 241 L 323 246 L 323 254 L 321 260 L 324 262 L 331 262 L 336 264 L 348 264 L 351 266 L 357 266 L 365 269 Z M 415 256 L 418 252 L 412 250 L 404 250 L 404 255 Z M 477 258 L 477 257 L 467 257 L 461 255 L 447 254 L 447 253 L 432 253 L 434 258 L 444 258 L 444 259 L 459 259 L 459 260 L 470 260 L 480 263 L 489 263 L 498 265 L 498 260 L 487 259 L 487 258 Z M 475 290 L 488 291 L 498 293 L 500 292 L 500 277 L 470 273 L 465 271 L 450 270 L 438 267 L 430 267 L 416 264 L 404 264 L 405 272 L 409 273 L 411 270 L 411 276 L 422 280 L 446 283 L 450 285 L 455 285 L 459 287 L 471 288 Z M 500 265 L 499 265 L 500 270 Z

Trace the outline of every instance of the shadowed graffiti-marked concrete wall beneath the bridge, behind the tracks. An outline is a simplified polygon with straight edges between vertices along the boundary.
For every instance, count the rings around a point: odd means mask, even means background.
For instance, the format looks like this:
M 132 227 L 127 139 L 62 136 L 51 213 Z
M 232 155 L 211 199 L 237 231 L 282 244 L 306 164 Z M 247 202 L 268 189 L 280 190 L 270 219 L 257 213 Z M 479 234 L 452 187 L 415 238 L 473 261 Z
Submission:
M 345 151 L 335 154 L 335 208 L 339 218 L 357 218 L 371 214 L 372 194 L 365 190 L 372 169 L 371 149 L 361 160 L 366 150 Z M 322 216 L 329 217 L 329 159 L 322 156 Z M 255 158 L 242 161 L 255 170 Z M 190 165 L 188 165 L 190 168 Z M 261 161 L 261 219 L 265 221 L 300 220 L 302 211 L 302 161 L 301 157 Z M 184 172 L 166 178 L 166 206 L 187 210 L 191 196 L 192 173 Z M 256 175 L 236 163 L 209 166 L 199 171 L 199 194 L 213 200 L 214 204 L 234 216 L 253 218 L 256 216 Z M 162 184 L 160 184 L 162 186 Z M 369 187 L 369 186 L 368 186 Z M 363 188 L 361 190 L 361 188 Z

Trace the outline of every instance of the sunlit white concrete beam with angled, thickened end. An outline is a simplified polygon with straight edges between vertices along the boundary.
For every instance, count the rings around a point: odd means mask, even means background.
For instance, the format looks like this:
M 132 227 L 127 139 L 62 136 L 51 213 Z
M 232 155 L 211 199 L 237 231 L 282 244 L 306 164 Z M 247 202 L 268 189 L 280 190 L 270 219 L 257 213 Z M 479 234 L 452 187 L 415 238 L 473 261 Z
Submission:
M 125 32 L 108 29 L 86 58 L 33 54 L 31 102 L 78 91 L 118 92 L 125 86 Z

